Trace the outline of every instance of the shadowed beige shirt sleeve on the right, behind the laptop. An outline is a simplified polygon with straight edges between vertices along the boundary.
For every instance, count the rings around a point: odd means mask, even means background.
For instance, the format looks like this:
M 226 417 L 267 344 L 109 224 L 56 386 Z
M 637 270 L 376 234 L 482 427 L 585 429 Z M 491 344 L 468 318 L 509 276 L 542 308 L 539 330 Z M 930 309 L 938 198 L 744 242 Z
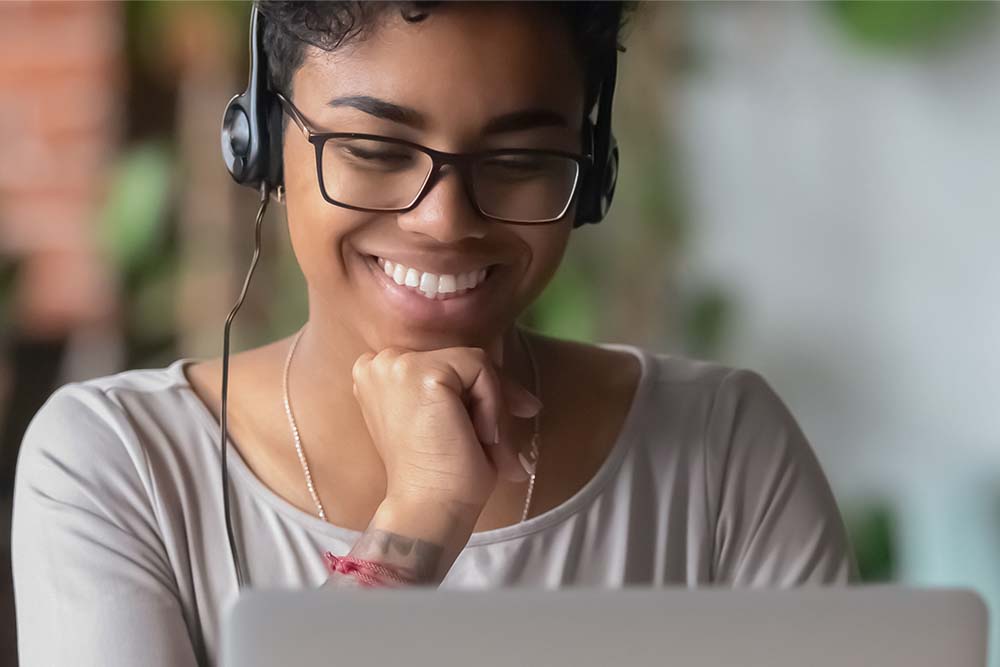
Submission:
M 833 492 L 788 408 L 757 373 L 721 381 L 706 429 L 713 579 L 742 587 L 855 582 Z

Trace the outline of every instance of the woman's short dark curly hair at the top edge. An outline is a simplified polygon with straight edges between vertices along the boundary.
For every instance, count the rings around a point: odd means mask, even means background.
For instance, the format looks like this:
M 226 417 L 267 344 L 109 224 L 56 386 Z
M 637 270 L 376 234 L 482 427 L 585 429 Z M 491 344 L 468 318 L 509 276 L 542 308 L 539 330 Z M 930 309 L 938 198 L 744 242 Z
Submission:
M 363 40 L 379 25 L 388 9 L 417 23 L 427 18 L 439 2 L 315 2 L 257 0 L 264 16 L 263 47 L 268 83 L 272 90 L 291 93 L 292 75 L 302 66 L 305 47 L 311 44 L 333 51 Z M 636 2 L 542 2 L 569 24 L 574 47 L 584 69 L 584 109 L 593 108 L 612 49 L 624 51 L 622 32 Z M 513 6 L 513 5 L 512 5 Z

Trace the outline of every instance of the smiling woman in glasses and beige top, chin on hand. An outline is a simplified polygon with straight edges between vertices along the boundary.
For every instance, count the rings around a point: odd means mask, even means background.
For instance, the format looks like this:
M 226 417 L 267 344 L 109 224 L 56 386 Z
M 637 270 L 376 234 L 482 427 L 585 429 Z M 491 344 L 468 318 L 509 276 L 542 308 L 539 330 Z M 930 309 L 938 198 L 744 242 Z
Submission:
M 249 585 L 356 585 L 325 552 L 443 588 L 854 576 L 816 458 L 759 375 L 515 325 L 586 195 L 573 156 L 620 7 L 262 11 L 309 318 L 231 360 Z M 317 155 L 321 132 L 388 141 Z M 415 145 L 534 152 L 432 173 Z M 13 536 L 23 664 L 212 661 L 237 592 L 221 366 L 68 385 L 35 418 Z

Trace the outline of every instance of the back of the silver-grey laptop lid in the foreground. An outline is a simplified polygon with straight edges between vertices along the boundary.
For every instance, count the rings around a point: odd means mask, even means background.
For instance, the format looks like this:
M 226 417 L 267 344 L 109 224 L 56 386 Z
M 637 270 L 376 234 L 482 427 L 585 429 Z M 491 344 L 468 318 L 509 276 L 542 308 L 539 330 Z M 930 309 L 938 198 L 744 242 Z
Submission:
M 985 667 L 964 589 L 248 591 L 222 667 Z

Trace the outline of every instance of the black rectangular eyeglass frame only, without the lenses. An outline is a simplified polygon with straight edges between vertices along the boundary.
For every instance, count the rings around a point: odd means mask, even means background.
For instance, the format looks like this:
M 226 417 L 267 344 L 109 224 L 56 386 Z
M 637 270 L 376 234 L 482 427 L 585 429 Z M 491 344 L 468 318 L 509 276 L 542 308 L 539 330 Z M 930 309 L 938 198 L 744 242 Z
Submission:
M 579 153 L 571 153 L 568 151 L 559 150 L 549 150 L 544 148 L 498 148 L 487 151 L 476 151 L 472 153 L 446 153 L 444 151 L 434 150 L 433 148 L 428 148 L 418 143 L 412 141 L 407 141 L 405 139 L 398 139 L 396 137 L 384 137 L 378 134 L 364 134 L 360 132 L 317 132 L 309 123 L 306 122 L 305 116 L 302 112 L 292 104 L 281 93 L 274 93 L 275 97 L 281 103 L 282 109 L 288 114 L 288 116 L 295 122 L 298 128 L 305 135 L 306 139 L 311 143 L 316 149 L 316 179 L 319 182 L 320 192 L 323 194 L 323 199 L 327 202 L 333 204 L 334 206 L 340 206 L 343 208 L 351 209 L 354 211 L 367 211 L 373 213 L 405 213 L 406 211 L 412 211 L 414 208 L 420 205 L 421 200 L 430 191 L 433 184 L 438 180 L 438 174 L 440 174 L 441 167 L 445 165 L 454 165 L 456 170 L 462 179 L 463 187 L 465 188 L 466 195 L 472 206 L 485 218 L 491 220 L 496 220 L 497 222 L 503 222 L 511 225 L 544 225 L 559 222 L 566 215 L 566 212 L 573 205 L 573 200 L 577 196 L 577 190 L 580 185 L 580 181 L 586 170 L 593 168 L 594 158 L 592 154 L 581 155 Z M 354 206 L 353 204 L 345 204 L 344 202 L 337 201 L 326 190 L 326 184 L 323 181 L 323 146 L 329 139 L 370 139 L 376 141 L 384 141 L 391 144 L 398 144 L 400 146 L 407 146 L 414 150 L 424 153 L 431 159 L 431 168 L 427 173 L 427 177 L 424 182 L 420 185 L 420 189 L 417 191 L 416 196 L 413 198 L 409 204 L 403 207 L 392 207 L 392 208 L 368 208 L 364 206 Z M 588 144 L 590 142 L 587 142 Z M 587 146 L 588 152 L 592 153 L 591 146 Z M 474 186 L 474 171 L 472 166 L 474 163 L 487 158 L 496 157 L 498 155 L 548 155 L 552 157 L 561 157 L 573 160 L 576 162 L 576 176 L 573 181 L 573 188 L 570 191 L 570 195 L 566 200 L 566 205 L 559 212 L 559 215 L 546 218 L 544 220 L 533 220 L 526 222 L 524 220 L 511 220 L 509 218 L 501 218 L 495 215 L 491 215 L 484 211 L 476 199 L 475 186 Z

